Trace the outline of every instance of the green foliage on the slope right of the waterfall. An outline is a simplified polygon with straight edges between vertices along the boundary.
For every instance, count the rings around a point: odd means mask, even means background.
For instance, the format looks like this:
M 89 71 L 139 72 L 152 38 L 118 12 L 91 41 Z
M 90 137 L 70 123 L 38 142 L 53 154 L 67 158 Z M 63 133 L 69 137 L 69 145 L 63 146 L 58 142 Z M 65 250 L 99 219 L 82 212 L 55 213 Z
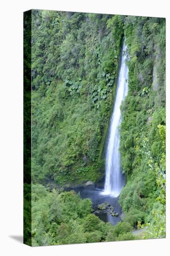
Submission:
M 127 184 L 120 203 L 124 221 L 148 222 L 145 238 L 164 237 L 165 20 L 124 17 L 124 34 L 130 59 L 129 92 L 120 128 Z

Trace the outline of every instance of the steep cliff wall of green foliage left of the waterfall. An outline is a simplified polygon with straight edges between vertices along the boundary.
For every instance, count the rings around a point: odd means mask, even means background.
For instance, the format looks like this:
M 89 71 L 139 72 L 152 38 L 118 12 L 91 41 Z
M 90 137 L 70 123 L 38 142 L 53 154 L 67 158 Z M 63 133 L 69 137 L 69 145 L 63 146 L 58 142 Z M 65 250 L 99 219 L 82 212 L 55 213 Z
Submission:
M 32 15 L 32 179 L 58 184 L 105 174 L 104 128 L 116 89 L 119 16 Z

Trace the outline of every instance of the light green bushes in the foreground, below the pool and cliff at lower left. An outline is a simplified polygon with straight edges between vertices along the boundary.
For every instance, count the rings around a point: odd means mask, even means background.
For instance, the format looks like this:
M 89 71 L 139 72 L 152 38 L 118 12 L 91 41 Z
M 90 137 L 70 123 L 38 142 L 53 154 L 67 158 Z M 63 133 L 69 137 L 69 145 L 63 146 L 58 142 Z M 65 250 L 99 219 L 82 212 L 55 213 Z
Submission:
M 132 229 L 126 222 L 114 227 L 101 221 L 92 214 L 91 200 L 82 200 L 74 191 L 48 191 L 39 184 L 32 186 L 33 246 L 115 241 L 123 237 L 131 240 Z

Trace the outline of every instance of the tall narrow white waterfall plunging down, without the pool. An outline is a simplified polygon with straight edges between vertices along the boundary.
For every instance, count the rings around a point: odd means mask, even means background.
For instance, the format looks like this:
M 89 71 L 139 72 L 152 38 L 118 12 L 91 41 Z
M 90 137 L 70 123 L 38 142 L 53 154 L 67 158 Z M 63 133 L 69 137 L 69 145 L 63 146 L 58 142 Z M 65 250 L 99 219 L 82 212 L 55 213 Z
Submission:
M 117 197 L 124 186 L 124 175 L 121 171 L 119 153 L 119 125 L 121 122 L 120 106 L 124 97 L 128 93 L 128 67 L 125 63 L 127 59 L 126 45 L 123 43 L 121 52 L 120 68 L 118 74 L 118 84 L 116 99 L 111 115 L 105 163 L 105 190 L 104 195 Z

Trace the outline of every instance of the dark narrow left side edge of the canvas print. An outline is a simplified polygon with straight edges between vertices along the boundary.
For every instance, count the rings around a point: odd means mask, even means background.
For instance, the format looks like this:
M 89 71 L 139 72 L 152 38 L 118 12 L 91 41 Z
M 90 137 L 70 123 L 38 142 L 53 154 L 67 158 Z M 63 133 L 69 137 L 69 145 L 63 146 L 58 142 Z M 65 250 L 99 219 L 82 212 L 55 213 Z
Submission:
M 31 236 L 31 11 L 24 13 L 24 243 Z M 26 192 L 29 190 L 29 193 Z

